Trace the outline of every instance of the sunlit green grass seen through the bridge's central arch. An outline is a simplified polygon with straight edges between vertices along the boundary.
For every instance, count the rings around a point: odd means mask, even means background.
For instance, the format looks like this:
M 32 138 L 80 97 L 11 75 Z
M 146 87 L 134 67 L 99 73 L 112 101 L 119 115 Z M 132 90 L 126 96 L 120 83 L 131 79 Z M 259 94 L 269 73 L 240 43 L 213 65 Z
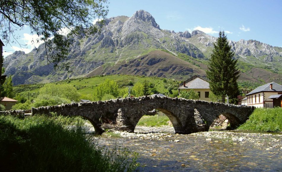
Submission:
M 142 116 L 142 118 L 139 120 L 137 125 L 140 126 L 148 126 L 148 127 L 160 127 L 162 125 L 168 125 L 167 121 L 169 121 L 169 118 L 167 116 Z

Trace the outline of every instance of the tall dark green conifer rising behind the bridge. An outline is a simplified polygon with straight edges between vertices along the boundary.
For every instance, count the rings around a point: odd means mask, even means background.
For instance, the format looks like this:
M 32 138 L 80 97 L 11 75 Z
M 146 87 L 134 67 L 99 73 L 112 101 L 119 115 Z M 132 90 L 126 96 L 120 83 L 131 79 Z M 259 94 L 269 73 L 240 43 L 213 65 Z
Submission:
M 214 43 L 206 75 L 211 91 L 216 96 L 220 96 L 222 102 L 225 102 L 225 95 L 233 98 L 237 97 L 239 92 L 237 84 L 240 73 L 237 68 L 238 59 L 233 59 L 233 56 L 234 52 L 231 51 L 224 31 L 220 31 L 219 37 Z

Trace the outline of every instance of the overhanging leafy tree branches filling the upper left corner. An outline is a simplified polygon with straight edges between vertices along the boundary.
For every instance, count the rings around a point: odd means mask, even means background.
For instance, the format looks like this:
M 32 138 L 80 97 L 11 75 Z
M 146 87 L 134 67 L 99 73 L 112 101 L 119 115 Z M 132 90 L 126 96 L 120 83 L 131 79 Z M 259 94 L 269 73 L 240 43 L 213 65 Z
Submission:
M 4 42 L 17 42 L 16 30 L 29 26 L 31 34 L 44 41 L 47 60 L 59 66 L 70 53 L 73 36 L 94 34 L 99 31 L 103 20 L 97 25 L 92 20 L 105 18 L 108 7 L 107 0 L 8 0 L 0 1 L 1 37 Z M 68 37 L 62 35 L 62 29 L 70 30 Z M 69 68 L 69 63 L 60 66 Z M 0 66 L 1 68 L 1 66 Z

